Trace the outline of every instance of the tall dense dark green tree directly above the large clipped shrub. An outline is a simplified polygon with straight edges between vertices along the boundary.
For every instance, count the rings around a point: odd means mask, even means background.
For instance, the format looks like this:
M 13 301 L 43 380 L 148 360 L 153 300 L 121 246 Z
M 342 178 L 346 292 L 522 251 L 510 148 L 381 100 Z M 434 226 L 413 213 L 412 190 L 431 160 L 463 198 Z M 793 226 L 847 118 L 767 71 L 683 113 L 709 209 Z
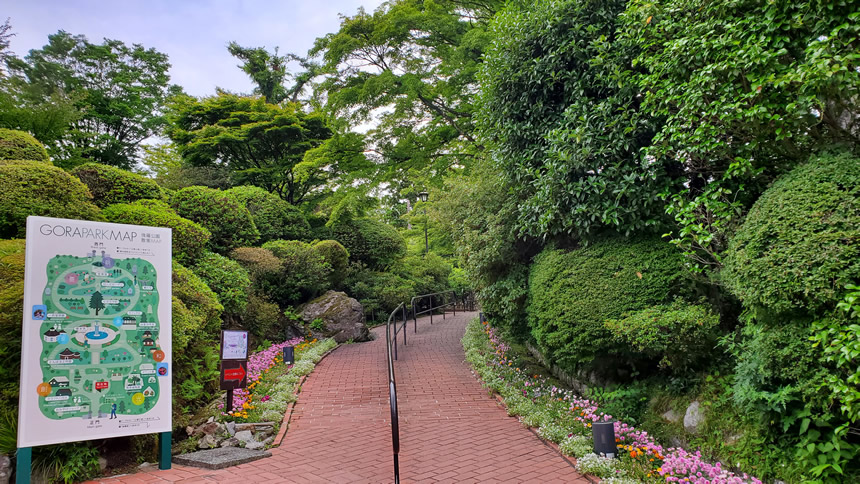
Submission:
M 677 176 L 647 160 L 655 121 L 639 112 L 619 38 L 626 2 L 514 3 L 496 16 L 481 71 L 479 127 L 523 197 L 521 230 L 585 237 L 659 224 Z

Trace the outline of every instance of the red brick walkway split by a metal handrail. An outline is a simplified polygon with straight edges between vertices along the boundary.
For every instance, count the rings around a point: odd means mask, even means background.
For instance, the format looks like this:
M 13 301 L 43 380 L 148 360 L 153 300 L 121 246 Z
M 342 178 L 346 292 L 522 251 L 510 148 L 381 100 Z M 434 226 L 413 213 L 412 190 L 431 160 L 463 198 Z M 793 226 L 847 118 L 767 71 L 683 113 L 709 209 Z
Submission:
M 464 361 L 460 338 L 476 313 L 410 324 L 395 362 L 400 472 L 407 482 L 588 481 L 531 431 L 508 417 Z M 174 465 L 102 481 L 393 482 L 385 328 L 375 341 L 343 345 L 305 382 L 292 423 L 272 457 L 219 471 Z

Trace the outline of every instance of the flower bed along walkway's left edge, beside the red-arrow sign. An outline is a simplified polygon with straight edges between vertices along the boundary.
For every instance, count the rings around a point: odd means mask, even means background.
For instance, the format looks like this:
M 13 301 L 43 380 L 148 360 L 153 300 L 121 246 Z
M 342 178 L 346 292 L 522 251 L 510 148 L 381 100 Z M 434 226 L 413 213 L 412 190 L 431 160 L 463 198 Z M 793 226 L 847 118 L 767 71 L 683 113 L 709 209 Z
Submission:
M 289 346 L 294 347 L 295 362 L 284 365 L 283 349 Z M 322 355 L 335 346 L 331 339 L 294 338 L 252 354 L 248 358 L 248 387 L 233 392 L 234 410 L 222 415 L 228 420 L 280 423 L 287 405 L 295 401 L 299 379 L 313 371 Z

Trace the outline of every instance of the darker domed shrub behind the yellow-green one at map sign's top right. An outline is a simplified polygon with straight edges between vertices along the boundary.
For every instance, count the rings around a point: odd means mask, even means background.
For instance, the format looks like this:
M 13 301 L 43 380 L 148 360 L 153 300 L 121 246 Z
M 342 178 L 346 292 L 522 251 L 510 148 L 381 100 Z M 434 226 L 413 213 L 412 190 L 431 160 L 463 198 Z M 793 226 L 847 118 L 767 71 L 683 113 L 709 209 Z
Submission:
M 200 186 L 183 188 L 171 195 L 170 206 L 212 233 L 209 247 L 213 252 L 226 254 L 260 238 L 251 213 L 230 193 Z

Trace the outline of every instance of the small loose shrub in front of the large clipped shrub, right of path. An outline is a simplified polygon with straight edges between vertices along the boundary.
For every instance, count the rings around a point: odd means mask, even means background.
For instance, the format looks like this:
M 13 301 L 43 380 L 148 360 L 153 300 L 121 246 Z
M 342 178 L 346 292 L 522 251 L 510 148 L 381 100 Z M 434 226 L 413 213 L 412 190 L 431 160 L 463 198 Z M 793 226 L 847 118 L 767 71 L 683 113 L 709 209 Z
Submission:
M 716 340 L 720 317 L 710 308 L 682 299 L 606 321 L 615 341 L 634 355 L 659 361 L 663 368 L 683 370 L 707 358 Z

